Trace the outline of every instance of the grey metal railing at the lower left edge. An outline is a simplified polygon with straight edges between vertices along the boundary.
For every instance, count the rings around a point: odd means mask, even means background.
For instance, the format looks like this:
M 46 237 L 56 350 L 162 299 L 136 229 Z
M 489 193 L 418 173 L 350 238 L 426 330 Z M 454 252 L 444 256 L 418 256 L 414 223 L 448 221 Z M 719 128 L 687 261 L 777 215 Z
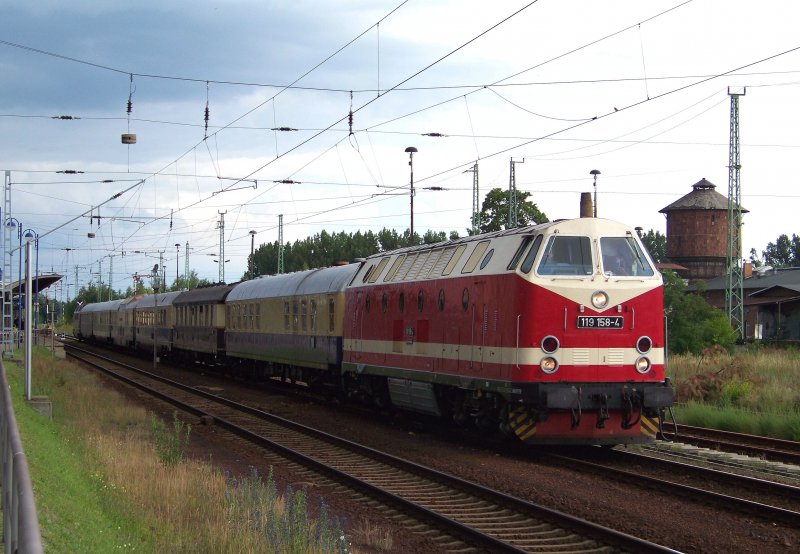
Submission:
M 6 554 L 44 552 L 39 518 L 11 404 L 6 370 L 0 361 L 0 448 L 3 456 L 3 547 Z

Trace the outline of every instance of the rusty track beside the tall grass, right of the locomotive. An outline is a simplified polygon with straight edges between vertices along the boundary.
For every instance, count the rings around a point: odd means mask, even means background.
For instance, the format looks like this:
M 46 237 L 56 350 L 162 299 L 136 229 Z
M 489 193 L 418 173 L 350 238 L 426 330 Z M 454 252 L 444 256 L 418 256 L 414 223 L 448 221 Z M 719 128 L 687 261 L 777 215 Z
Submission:
M 664 425 L 663 435 L 666 440 L 800 465 L 800 443 L 796 441 L 672 423 Z

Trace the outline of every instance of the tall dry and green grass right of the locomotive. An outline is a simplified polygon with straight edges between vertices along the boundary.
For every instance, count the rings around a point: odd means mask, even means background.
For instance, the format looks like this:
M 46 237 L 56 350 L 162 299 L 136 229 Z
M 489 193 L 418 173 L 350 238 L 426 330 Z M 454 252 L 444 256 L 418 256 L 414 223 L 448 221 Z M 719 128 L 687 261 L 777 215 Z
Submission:
M 681 423 L 800 440 L 800 352 L 751 346 L 670 356 Z

